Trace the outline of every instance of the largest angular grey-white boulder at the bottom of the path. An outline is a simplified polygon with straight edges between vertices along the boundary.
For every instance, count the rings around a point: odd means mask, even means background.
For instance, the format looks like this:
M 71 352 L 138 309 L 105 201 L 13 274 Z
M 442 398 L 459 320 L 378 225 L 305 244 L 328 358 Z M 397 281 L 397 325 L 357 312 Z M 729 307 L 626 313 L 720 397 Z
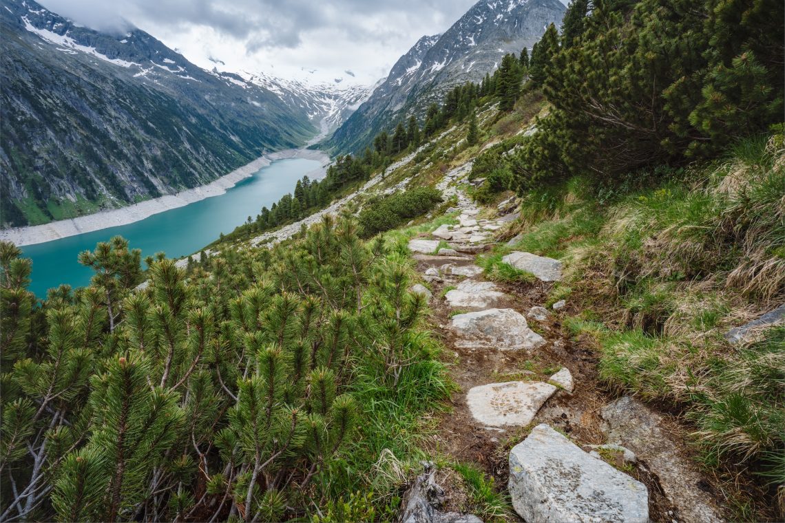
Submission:
M 525 521 L 648 523 L 640 481 L 583 452 L 546 424 L 509 453 L 509 493 Z

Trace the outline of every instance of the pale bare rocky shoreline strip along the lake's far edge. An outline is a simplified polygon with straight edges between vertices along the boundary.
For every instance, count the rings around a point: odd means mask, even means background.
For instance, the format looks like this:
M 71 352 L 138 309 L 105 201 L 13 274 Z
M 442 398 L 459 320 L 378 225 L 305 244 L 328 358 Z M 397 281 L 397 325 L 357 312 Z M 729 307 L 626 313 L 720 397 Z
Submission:
M 183 207 L 193 202 L 199 202 L 205 198 L 224 194 L 227 189 L 234 187 L 240 180 L 253 176 L 259 169 L 270 165 L 277 160 L 289 158 L 304 158 L 306 160 L 316 160 L 321 162 L 321 167 L 315 169 L 307 176 L 318 179 L 324 175 L 327 165 L 330 165 L 330 157 L 323 151 L 312 149 L 287 149 L 268 153 L 261 158 L 255 159 L 232 173 L 221 176 L 213 182 L 207 183 L 192 189 L 186 189 L 177 194 L 166 194 L 159 198 L 144 200 L 119 209 L 108 209 L 95 212 L 86 216 L 77 216 L 68 220 L 57 220 L 42 225 L 30 225 L 26 227 L 13 227 L 11 229 L 0 230 L 0 241 L 13 242 L 22 247 L 24 245 L 35 245 L 36 243 L 51 242 L 60 238 L 68 238 L 86 232 L 100 231 L 108 227 L 118 227 L 129 223 L 144 220 L 159 212 L 165 212 L 177 207 Z M 294 187 L 292 187 L 294 191 Z

